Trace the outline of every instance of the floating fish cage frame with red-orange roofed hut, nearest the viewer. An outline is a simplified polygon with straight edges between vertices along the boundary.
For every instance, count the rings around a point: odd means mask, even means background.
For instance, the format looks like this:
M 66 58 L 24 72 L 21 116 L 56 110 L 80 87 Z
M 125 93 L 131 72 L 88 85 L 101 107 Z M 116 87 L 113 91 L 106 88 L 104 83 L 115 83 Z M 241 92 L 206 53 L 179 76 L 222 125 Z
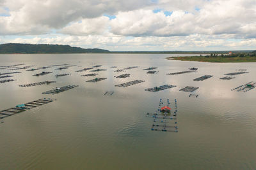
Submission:
M 173 108 L 170 108 L 170 101 L 164 104 L 162 99 L 155 113 L 146 113 L 146 117 L 153 118 L 151 131 L 178 132 L 177 126 L 177 100 L 174 100 Z

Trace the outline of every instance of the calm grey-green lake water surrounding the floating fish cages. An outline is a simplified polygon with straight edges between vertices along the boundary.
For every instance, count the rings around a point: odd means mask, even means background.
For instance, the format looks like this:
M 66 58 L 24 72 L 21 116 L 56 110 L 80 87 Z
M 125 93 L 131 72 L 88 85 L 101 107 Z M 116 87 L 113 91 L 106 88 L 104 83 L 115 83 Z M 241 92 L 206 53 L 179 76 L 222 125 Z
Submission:
M 166 60 L 172 55 L 67 54 L 0 55 L 0 65 L 74 64 L 62 71 L 35 77 L 39 71 L 21 70 L 10 83 L 0 83 L 0 110 L 42 97 L 56 101 L 4 118 L 0 124 L 0 169 L 255 169 L 256 168 L 256 90 L 230 89 L 256 81 L 256 63 L 214 64 Z M 107 80 L 86 83 L 92 73 L 75 71 L 103 65 L 98 77 Z M 117 79 L 114 72 L 129 66 L 130 78 Z M 158 74 L 146 74 L 147 67 L 158 67 Z M 166 75 L 198 67 L 198 72 Z M 249 74 L 233 80 L 220 80 L 225 73 L 247 69 Z M 11 72 L 7 69 L 1 73 Z M 56 78 L 55 74 L 71 73 Z M 204 74 L 205 81 L 193 81 Z M 2 79 L 3 80 L 3 79 Z M 23 88 L 19 85 L 55 80 L 51 85 Z M 131 87 L 119 83 L 145 80 Z M 177 85 L 161 92 L 144 89 Z M 54 87 L 79 85 L 54 96 L 42 92 Z M 179 92 L 182 87 L 199 87 L 198 98 Z M 113 96 L 104 96 L 113 90 Z M 159 98 L 177 99 L 179 132 L 150 131 L 152 119 L 145 113 L 156 110 Z

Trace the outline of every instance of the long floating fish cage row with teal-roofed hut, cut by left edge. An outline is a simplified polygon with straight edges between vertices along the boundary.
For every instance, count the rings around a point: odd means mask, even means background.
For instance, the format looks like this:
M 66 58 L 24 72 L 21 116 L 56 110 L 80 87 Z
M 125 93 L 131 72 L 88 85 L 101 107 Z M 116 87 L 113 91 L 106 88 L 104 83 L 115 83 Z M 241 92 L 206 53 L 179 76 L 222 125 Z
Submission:
M 22 111 L 30 110 L 32 108 L 36 108 L 38 106 L 42 106 L 47 103 L 51 103 L 52 101 L 53 101 L 52 99 L 44 98 L 44 99 L 38 99 L 36 101 L 31 101 L 26 104 L 19 104 L 13 108 L 0 111 L 0 118 L 10 117 L 10 116 L 20 113 Z

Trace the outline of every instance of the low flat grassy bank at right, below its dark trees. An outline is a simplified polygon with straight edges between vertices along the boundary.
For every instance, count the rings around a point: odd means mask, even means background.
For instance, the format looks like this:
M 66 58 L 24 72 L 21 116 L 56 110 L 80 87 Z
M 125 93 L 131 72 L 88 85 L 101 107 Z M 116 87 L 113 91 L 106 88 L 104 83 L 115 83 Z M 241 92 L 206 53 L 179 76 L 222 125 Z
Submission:
M 199 61 L 199 62 L 256 62 L 256 57 L 167 57 L 168 60 Z

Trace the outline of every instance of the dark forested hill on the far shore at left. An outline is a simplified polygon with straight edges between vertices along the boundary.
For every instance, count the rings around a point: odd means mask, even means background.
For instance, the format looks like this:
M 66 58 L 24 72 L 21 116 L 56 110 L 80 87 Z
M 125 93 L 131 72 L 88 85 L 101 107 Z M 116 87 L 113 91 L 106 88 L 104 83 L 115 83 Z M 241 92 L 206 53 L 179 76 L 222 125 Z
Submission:
M 0 45 L 0 53 L 108 53 L 99 48 L 80 48 L 70 45 L 19 44 L 8 43 Z

